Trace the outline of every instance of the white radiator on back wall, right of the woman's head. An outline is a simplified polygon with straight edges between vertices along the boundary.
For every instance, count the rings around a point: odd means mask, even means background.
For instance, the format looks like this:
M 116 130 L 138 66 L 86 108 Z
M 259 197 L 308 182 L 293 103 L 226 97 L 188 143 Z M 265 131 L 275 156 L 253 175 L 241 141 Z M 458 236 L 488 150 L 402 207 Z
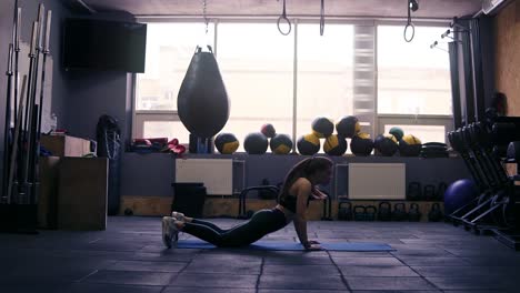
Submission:
M 349 199 L 404 200 L 406 164 L 350 163 Z

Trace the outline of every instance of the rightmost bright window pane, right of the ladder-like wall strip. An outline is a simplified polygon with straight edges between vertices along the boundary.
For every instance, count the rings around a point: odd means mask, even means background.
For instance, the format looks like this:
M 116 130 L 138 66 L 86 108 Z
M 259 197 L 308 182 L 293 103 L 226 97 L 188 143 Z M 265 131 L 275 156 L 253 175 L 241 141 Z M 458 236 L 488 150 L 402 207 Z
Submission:
M 430 48 L 446 29 L 416 26 L 407 42 L 402 26 L 378 26 L 379 132 L 399 125 L 422 142 L 446 142 L 453 112 L 449 55 Z

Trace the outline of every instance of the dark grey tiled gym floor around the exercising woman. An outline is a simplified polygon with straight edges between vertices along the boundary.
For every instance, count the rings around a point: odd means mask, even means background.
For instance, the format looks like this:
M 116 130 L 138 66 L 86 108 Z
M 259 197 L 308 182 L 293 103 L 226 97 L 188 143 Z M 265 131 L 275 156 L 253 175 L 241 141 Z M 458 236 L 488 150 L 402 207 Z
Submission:
M 520 292 L 520 252 L 447 223 L 322 221 L 309 234 L 396 251 L 167 250 L 159 218 L 111 216 L 107 231 L 0 234 L 0 292 Z M 263 240 L 294 239 L 289 225 Z

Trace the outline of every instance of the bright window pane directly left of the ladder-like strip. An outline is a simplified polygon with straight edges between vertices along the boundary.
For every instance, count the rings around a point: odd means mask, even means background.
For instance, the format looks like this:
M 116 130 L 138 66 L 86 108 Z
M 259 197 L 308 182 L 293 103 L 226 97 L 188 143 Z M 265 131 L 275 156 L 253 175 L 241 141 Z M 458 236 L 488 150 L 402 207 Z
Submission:
M 311 132 L 317 117 L 337 122 L 352 113 L 353 26 L 298 27 L 297 132 Z

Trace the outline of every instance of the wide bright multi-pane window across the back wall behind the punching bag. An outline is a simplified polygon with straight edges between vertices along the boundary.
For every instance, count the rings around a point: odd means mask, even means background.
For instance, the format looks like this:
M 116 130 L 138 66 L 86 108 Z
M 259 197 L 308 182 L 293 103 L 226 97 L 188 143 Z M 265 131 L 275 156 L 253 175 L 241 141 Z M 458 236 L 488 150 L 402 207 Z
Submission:
M 146 73 L 136 78 L 134 137 L 188 143 L 177 95 L 196 47 L 206 44 L 213 46 L 230 99 L 222 132 L 237 135 L 239 151 L 246 135 L 260 131 L 263 123 L 298 139 L 311 131 L 317 117 L 336 122 L 353 114 L 360 99 L 354 95 L 359 80 L 354 70 L 370 64 L 377 71 L 377 80 L 367 79 L 376 89 L 377 107 L 370 113 L 377 121 L 376 134 L 401 125 L 427 142 L 443 141 L 450 130 L 448 53 L 430 49 L 446 30 L 442 27 L 416 26 L 416 37 L 408 43 L 402 26 L 370 24 L 377 33 L 363 33 L 370 31 L 366 22 L 363 27 L 336 22 L 327 23 L 320 36 L 318 22 L 294 22 L 292 32 L 282 36 L 272 21 L 214 23 L 207 34 L 201 22 L 149 23 Z M 377 50 L 354 47 L 360 38 Z

